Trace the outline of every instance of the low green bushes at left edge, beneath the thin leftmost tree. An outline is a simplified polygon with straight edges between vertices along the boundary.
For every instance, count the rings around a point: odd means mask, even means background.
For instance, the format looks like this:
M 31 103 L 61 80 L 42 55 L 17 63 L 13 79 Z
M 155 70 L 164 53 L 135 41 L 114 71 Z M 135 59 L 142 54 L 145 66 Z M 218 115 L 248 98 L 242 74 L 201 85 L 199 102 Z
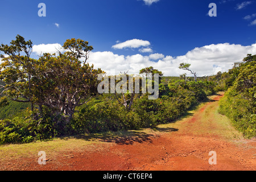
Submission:
M 63 115 L 50 114 L 46 108 L 44 108 L 43 117 L 32 118 L 34 117 L 0 120 L 0 144 L 51 139 L 64 135 L 68 131 Z

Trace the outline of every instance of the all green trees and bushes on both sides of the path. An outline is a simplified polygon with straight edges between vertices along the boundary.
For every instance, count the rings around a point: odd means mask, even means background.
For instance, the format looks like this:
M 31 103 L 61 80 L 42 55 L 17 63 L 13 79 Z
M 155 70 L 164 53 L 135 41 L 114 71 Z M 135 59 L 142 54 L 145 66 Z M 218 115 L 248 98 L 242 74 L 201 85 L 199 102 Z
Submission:
M 98 76 L 104 71 L 86 63 L 93 47 L 84 40 L 68 39 L 64 53 L 44 53 L 37 60 L 30 58 L 31 47 L 31 40 L 26 42 L 19 35 L 10 46 L 0 47 L 9 55 L 2 56 L 0 65 L 0 144 L 154 128 L 174 121 L 221 90 L 228 91 L 220 112 L 228 115 L 245 135 L 255 136 L 255 56 L 249 55 L 245 63 L 236 64 L 228 73 L 208 77 L 197 77 L 189 64 L 181 64 L 180 69 L 191 71 L 194 77 L 164 77 L 157 69 L 144 68 L 140 73 L 160 76 L 159 82 L 154 78 L 146 80 L 146 85 L 159 86 L 159 97 L 149 100 L 151 93 L 144 92 L 142 86 L 139 93 L 134 88 L 133 92 L 123 88 L 135 84 L 135 77 L 129 82 L 127 73 L 114 77 L 119 92 L 98 93 L 102 81 Z M 113 89 L 110 82 L 100 86 L 103 90 Z

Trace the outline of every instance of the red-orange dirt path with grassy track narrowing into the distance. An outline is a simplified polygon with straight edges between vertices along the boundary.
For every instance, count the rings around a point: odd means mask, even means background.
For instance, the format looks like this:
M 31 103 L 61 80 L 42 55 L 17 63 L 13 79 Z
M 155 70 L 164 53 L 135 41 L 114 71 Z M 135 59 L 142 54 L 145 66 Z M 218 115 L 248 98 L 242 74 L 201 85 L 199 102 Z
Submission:
M 6 159 L 0 169 L 255 170 L 256 140 L 242 139 L 227 118 L 217 113 L 222 94 L 181 121 L 160 125 L 156 131 L 104 137 L 100 144 L 91 144 L 90 150 L 54 151 L 47 156 L 46 165 L 37 163 L 38 156 Z M 210 151 L 216 152 L 217 164 L 209 164 Z

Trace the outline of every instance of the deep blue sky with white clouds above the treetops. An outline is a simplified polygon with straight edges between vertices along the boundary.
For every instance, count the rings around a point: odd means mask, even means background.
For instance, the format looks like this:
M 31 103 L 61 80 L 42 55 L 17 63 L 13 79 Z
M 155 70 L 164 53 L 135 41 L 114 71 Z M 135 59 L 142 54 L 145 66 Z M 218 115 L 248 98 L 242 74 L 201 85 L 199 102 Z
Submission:
M 39 3 L 46 17 L 38 16 Z M 216 17 L 208 15 L 209 3 L 216 3 Z M 199 76 L 212 75 L 256 54 L 255 7 L 255 0 L 0 0 L 0 43 L 19 34 L 52 49 L 80 38 L 102 69 L 135 73 L 152 65 L 177 76 L 177 65 L 187 62 Z

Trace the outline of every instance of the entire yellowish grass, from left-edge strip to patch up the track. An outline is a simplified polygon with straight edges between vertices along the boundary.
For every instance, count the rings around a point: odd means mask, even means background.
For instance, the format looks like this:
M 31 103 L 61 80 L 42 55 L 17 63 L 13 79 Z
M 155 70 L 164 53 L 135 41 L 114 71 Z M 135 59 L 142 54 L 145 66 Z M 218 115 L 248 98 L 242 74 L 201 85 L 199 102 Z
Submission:
M 214 96 L 209 97 L 209 99 Z M 200 109 L 205 107 L 203 112 Z M 56 156 L 67 151 L 91 151 L 103 150 L 113 143 L 129 143 L 150 141 L 150 137 L 154 137 L 159 133 L 172 133 L 171 131 L 188 132 L 188 134 L 196 135 L 217 135 L 223 139 L 240 139 L 242 134 L 239 133 L 230 120 L 218 113 L 218 102 L 207 104 L 204 102 L 199 106 L 188 110 L 180 119 L 175 122 L 159 125 L 155 130 L 142 129 L 139 131 L 119 131 L 105 132 L 98 134 L 82 134 L 71 137 L 62 137 L 48 140 L 45 142 L 37 141 L 27 144 L 5 144 L 0 146 L 0 162 L 8 158 L 18 159 L 20 157 L 29 158 L 37 156 L 39 151 L 45 151 L 51 156 Z M 188 119 L 197 117 L 195 123 L 187 122 Z M 188 130 L 189 129 L 189 130 Z

